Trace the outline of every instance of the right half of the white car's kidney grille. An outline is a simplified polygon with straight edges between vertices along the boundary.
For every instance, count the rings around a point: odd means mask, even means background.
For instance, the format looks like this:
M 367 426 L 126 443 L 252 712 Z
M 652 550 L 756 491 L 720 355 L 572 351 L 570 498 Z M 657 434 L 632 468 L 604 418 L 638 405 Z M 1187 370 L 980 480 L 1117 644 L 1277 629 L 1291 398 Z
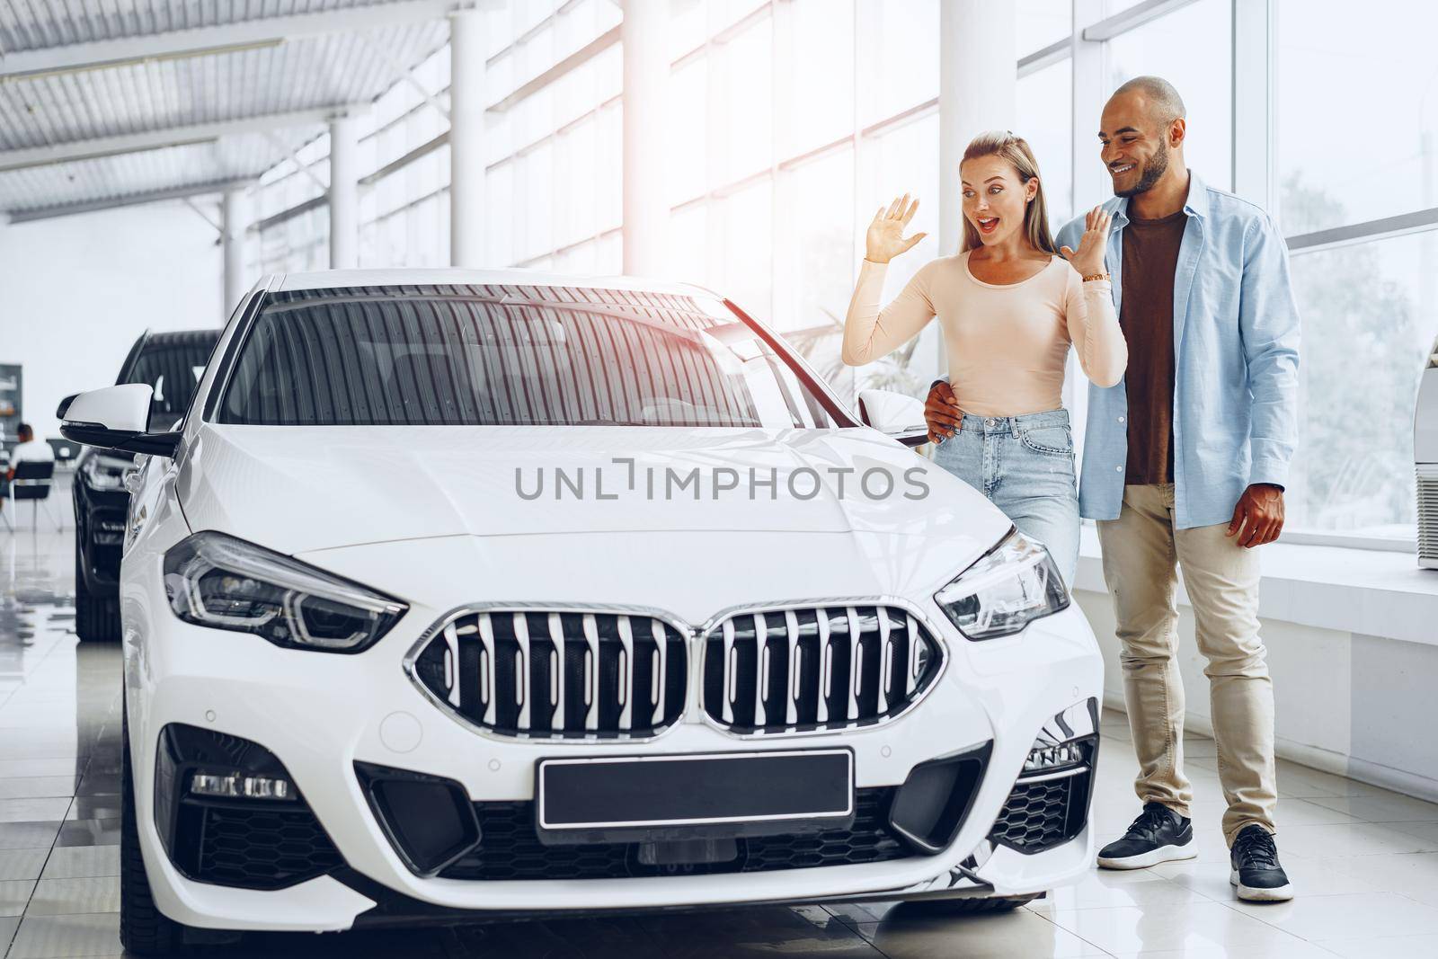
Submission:
M 741 735 L 876 725 L 916 702 L 940 664 L 935 638 L 902 607 L 741 612 L 705 634 L 703 705 Z

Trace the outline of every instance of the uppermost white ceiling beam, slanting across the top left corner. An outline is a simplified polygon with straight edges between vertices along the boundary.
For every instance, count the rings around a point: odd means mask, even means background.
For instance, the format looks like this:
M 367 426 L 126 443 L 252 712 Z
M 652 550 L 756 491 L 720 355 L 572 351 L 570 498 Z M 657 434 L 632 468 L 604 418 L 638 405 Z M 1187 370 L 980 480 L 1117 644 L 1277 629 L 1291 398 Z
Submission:
M 14 50 L 0 56 L 0 82 L 52 73 L 106 69 L 150 60 L 209 56 L 236 49 L 250 49 L 380 27 L 427 23 L 443 19 L 457 6 L 456 0 L 393 0 L 344 12 L 301 13 L 260 17 L 219 26 L 167 30 L 114 40 L 91 40 L 36 50 Z

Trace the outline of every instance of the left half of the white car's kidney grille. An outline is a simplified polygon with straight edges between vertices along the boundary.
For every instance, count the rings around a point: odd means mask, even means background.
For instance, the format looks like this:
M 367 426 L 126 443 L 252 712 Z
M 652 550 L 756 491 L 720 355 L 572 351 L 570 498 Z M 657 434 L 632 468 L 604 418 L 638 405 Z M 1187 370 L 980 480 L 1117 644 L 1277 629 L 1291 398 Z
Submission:
M 686 634 L 633 612 L 462 612 L 413 654 L 410 673 L 499 735 L 647 738 L 683 715 Z

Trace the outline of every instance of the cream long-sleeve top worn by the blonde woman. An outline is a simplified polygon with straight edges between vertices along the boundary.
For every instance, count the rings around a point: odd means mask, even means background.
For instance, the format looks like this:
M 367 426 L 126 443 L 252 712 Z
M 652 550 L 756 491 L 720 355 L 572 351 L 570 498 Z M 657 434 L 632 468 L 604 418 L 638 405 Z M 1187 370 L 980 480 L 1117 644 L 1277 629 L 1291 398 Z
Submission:
M 1123 377 L 1129 348 L 1109 280 L 1078 276 L 1055 256 L 1018 283 L 985 283 L 969 253 L 926 263 L 883 309 L 884 263 L 864 260 L 844 319 L 843 359 L 851 367 L 909 342 L 935 316 L 943 326 L 949 384 L 959 408 L 975 416 L 1022 416 L 1063 405 L 1068 347 L 1100 387 Z

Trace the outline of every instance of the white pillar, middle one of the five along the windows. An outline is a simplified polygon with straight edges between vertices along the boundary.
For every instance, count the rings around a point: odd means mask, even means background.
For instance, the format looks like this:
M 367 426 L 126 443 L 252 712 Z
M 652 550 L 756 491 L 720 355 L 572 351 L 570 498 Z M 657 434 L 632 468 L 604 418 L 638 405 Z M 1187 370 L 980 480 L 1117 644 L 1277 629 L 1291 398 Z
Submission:
M 450 265 L 485 265 L 483 14 L 450 13 Z

